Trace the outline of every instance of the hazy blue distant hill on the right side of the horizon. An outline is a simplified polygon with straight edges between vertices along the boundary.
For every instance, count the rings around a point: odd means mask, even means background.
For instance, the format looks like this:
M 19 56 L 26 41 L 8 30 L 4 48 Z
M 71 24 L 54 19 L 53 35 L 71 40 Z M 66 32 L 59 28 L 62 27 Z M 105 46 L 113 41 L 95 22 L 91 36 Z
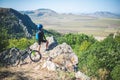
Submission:
M 105 18 L 120 18 L 120 15 L 107 11 L 98 11 L 94 13 L 81 14 L 81 15 L 93 16 L 93 17 L 105 17 Z

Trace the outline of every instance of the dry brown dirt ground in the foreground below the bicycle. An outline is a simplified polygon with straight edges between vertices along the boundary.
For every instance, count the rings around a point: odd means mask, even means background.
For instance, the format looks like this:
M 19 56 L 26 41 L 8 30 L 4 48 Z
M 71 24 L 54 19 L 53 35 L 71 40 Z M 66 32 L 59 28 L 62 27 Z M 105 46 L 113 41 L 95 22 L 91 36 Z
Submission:
M 62 71 L 41 69 L 41 64 L 38 62 L 17 67 L 1 67 L 0 80 L 75 80 Z

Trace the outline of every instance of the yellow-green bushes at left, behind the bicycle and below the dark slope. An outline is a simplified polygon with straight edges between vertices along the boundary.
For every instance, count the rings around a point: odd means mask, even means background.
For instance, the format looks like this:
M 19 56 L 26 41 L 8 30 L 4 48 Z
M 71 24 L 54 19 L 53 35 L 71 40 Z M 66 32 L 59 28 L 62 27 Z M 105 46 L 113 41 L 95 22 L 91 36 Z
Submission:
M 13 36 L 11 37 L 11 34 L 8 34 L 8 30 L 4 27 L 0 29 L 0 32 L 0 52 L 12 47 L 23 50 L 35 42 L 34 38 L 28 39 L 19 36 L 17 36 L 18 38 L 16 38 L 16 36 L 13 38 Z

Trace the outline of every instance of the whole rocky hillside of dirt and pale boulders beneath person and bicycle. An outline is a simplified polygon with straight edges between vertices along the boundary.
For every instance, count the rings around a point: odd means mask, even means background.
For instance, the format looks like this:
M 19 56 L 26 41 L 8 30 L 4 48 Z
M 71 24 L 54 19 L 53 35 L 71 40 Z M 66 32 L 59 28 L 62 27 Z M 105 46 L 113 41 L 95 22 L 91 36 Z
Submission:
M 18 67 L 8 67 L 0 71 L 0 79 L 20 79 L 20 80 L 90 80 L 84 73 L 75 69 L 78 64 L 78 57 L 73 52 L 72 48 L 66 44 L 58 45 L 53 37 L 47 37 L 49 41 L 49 51 L 45 50 L 45 44 L 42 44 L 41 54 L 42 59 L 37 62 L 31 62 L 29 57 L 24 58 L 24 63 L 21 62 Z M 36 50 L 38 44 L 34 43 L 30 46 Z M 9 54 L 10 50 L 1 53 Z M 14 55 L 12 55 L 14 56 Z M 6 60 L 6 57 L 1 59 Z M 74 67 L 73 67 L 74 66 Z M 8 74 L 4 75 L 8 71 Z M 11 73 L 11 74 L 9 74 Z

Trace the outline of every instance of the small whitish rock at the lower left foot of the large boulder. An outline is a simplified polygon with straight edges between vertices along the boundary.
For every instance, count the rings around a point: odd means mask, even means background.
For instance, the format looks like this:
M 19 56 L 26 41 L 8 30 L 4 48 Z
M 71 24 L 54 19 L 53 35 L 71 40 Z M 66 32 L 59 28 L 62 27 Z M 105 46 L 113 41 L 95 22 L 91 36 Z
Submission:
M 48 71 L 55 71 L 56 65 L 55 65 L 55 63 L 53 63 L 51 61 L 46 61 L 42 66 L 42 69 L 44 69 L 44 68 L 46 68 Z

